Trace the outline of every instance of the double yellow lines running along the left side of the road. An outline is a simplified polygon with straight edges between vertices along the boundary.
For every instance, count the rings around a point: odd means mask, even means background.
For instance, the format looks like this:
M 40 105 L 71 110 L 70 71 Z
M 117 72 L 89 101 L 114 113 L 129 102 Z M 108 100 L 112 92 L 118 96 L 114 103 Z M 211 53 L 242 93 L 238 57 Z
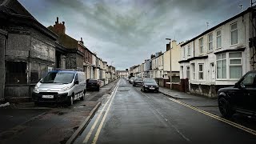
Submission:
M 102 130 L 102 126 L 103 126 L 103 123 L 104 123 L 104 121 L 105 121 L 105 119 L 106 119 L 106 115 L 108 114 L 108 112 L 109 112 L 109 110 L 110 110 L 110 106 L 111 106 L 111 104 L 112 104 L 112 102 L 113 102 L 114 96 L 115 96 L 115 94 L 117 93 L 118 85 L 119 85 L 119 82 L 118 82 L 117 86 L 115 87 L 114 92 L 110 95 L 110 98 L 106 101 L 106 104 L 103 106 L 101 112 L 98 114 L 98 117 L 96 118 L 96 120 L 95 120 L 93 126 L 91 126 L 90 131 L 88 132 L 88 134 L 86 135 L 86 138 L 84 139 L 84 141 L 83 141 L 82 143 L 88 143 L 91 134 L 93 133 L 93 131 L 94 131 L 96 125 L 98 124 L 99 119 L 102 117 L 103 111 L 105 110 L 106 106 L 107 106 L 108 103 L 110 102 L 109 105 L 108 105 L 108 107 L 107 107 L 107 109 L 106 109 L 106 113 L 103 115 L 102 121 L 101 121 L 101 123 L 100 123 L 99 126 L 98 126 L 98 130 L 96 131 L 96 134 L 95 134 L 95 136 L 94 136 L 94 139 L 93 139 L 93 142 L 92 142 L 92 143 L 95 144 L 95 143 L 98 141 L 98 136 L 99 136 L 99 134 L 100 134 L 100 132 L 101 132 L 101 130 Z

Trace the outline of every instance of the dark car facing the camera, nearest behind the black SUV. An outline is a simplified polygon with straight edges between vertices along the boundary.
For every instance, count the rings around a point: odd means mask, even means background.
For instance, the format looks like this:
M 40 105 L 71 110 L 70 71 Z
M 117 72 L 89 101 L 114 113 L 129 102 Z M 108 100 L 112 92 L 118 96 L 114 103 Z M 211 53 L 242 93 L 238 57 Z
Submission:
M 158 86 L 158 83 L 155 82 L 153 78 L 144 78 L 142 81 L 141 90 L 143 92 L 154 91 L 158 93 L 159 86 Z

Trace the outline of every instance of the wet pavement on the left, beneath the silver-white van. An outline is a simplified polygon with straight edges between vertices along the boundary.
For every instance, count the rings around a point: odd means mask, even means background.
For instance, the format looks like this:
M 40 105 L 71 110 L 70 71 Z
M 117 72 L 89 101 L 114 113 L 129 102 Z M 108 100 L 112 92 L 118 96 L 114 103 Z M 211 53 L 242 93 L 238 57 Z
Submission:
M 70 107 L 34 106 L 33 102 L 2 107 L 0 143 L 66 143 L 98 102 L 110 94 L 116 82 L 110 82 L 100 91 L 87 91 L 84 101 L 75 101 Z

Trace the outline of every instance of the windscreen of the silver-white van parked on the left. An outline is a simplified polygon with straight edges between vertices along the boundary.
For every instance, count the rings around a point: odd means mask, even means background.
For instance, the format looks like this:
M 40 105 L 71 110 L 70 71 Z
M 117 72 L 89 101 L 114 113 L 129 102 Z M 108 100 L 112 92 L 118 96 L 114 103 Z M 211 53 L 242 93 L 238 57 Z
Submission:
M 48 73 L 45 78 L 42 78 L 42 83 L 71 83 L 74 78 L 74 73 L 52 72 Z

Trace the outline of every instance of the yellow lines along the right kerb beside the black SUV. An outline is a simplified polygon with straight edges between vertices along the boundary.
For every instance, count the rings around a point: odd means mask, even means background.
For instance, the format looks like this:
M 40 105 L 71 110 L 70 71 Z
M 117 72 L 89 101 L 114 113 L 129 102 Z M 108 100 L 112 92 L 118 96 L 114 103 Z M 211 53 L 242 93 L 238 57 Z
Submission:
M 197 107 L 194 107 L 194 106 L 190 106 L 190 105 L 186 104 L 185 102 L 180 102 L 180 101 L 178 101 L 178 100 L 176 100 L 174 98 L 169 98 L 169 99 L 170 99 L 170 101 L 173 101 L 173 102 L 176 102 L 178 104 L 181 104 L 182 106 L 186 106 L 186 107 L 188 107 L 188 108 L 190 108 L 192 110 L 196 110 L 199 113 L 206 114 L 207 116 L 209 116 L 211 118 L 215 118 L 215 119 L 218 119 L 221 122 L 225 122 L 226 124 L 229 124 L 230 126 L 234 126 L 234 127 L 238 128 L 240 130 L 244 130 L 244 131 L 246 131 L 246 132 L 248 132 L 250 134 L 256 135 L 256 130 L 252 130 L 252 129 L 246 127 L 246 126 L 242 126 L 242 125 L 239 125 L 238 123 L 231 122 L 231 121 L 229 121 L 229 120 L 227 120 L 225 118 L 221 118 L 221 117 L 219 117 L 219 116 L 217 116 L 215 114 L 210 114 L 209 112 L 206 112 L 204 110 L 198 109 Z

